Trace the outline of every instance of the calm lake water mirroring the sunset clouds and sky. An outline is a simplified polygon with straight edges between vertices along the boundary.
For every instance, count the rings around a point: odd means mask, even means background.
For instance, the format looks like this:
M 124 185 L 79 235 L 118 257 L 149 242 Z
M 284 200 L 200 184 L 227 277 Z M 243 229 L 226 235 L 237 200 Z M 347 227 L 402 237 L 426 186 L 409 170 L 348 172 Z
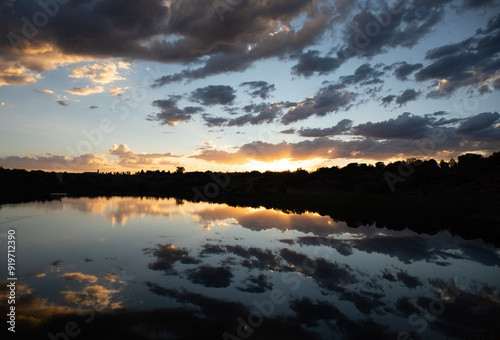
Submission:
M 122 197 L 1 206 L 2 332 L 11 229 L 16 334 L 39 339 L 499 334 L 500 251 L 481 240 Z

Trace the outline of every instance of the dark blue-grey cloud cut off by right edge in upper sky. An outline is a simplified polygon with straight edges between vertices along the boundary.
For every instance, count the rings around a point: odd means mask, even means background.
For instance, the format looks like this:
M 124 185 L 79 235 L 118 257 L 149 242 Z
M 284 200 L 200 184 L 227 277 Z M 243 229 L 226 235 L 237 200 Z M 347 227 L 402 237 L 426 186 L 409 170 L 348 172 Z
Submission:
M 430 63 L 415 74 L 418 81 L 439 82 L 427 97 L 438 98 L 464 86 L 480 87 L 500 69 L 500 14 L 488 21 L 485 29 L 461 42 L 429 50 Z

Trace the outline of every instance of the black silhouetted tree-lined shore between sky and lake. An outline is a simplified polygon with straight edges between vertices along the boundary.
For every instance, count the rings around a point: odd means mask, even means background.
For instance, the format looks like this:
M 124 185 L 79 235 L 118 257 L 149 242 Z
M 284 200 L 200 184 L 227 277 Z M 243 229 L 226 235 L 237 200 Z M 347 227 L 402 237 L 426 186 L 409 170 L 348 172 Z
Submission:
M 312 173 L 73 174 L 0 168 L 0 184 L 0 204 L 49 200 L 54 192 L 68 197 L 172 197 L 317 212 L 354 228 L 374 224 L 427 234 L 448 230 L 500 245 L 500 153 L 459 157 L 456 164 L 353 163 Z

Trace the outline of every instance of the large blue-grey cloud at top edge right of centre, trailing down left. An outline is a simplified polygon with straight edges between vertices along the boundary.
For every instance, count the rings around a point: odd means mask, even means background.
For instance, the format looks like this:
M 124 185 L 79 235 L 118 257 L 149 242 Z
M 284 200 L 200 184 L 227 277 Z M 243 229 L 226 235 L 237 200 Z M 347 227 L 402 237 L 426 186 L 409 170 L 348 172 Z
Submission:
M 347 23 L 343 24 L 346 27 L 343 31 L 344 43 L 336 49 L 335 57 L 321 57 L 317 50 L 292 54 L 291 59 L 298 59 L 292 73 L 305 77 L 315 73 L 324 75 L 335 71 L 352 57 L 371 58 L 390 48 L 413 47 L 442 20 L 444 6 L 448 2 L 398 1 L 392 7 L 383 3 L 379 9 L 368 5 L 354 16 L 347 16 Z M 352 7 L 347 12 L 351 11 Z M 346 19 L 334 19 L 339 20 Z M 415 67 L 406 67 L 400 72 L 408 75 L 418 69 Z

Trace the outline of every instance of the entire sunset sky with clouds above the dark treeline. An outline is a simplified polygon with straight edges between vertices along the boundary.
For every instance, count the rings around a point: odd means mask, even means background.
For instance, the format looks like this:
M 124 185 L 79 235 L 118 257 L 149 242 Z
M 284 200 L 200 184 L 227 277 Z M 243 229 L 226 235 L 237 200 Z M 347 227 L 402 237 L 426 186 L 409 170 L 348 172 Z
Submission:
M 500 1 L 0 0 L 0 166 L 500 151 Z

